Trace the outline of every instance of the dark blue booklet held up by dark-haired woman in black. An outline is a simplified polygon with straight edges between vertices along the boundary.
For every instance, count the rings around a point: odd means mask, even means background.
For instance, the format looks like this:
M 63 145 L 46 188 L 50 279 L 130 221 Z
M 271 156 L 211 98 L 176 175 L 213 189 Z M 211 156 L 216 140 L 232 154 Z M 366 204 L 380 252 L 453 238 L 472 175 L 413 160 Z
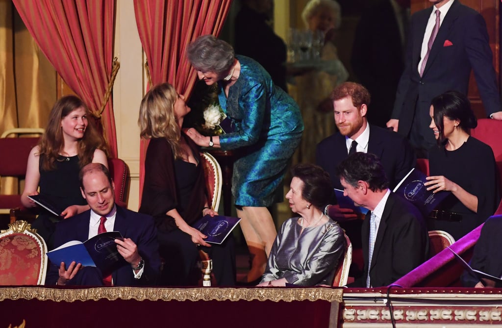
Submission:
M 424 185 L 425 182 L 427 182 L 426 175 L 422 171 L 413 168 L 394 188 L 394 192 L 410 201 L 425 216 L 428 216 L 450 192 L 433 193 L 434 190 L 427 190 L 429 186 Z

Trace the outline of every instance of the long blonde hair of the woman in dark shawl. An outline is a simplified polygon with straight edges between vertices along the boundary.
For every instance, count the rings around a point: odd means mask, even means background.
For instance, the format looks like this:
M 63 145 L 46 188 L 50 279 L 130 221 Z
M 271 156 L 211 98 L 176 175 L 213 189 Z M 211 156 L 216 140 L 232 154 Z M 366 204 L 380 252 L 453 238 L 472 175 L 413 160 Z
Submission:
M 157 84 L 141 100 L 138 119 L 141 138 L 165 138 L 171 145 L 175 159 L 181 158 L 183 154 L 181 130 L 174 114 L 174 103 L 178 97 L 178 92 L 171 84 Z

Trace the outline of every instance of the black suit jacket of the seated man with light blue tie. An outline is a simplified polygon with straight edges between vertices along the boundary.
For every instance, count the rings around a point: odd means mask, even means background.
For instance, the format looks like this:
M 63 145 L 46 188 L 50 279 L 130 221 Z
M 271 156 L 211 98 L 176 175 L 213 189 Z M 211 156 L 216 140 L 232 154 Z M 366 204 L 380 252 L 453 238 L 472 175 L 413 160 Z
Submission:
M 369 222 L 371 212 L 362 223 L 364 270 L 354 286 L 365 287 L 368 272 Z M 423 263 L 429 253 L 429 236 L 420 211 L 407 200 L 391 192 L 385 204 L 369 266 L 372 287 L 392 284 Z

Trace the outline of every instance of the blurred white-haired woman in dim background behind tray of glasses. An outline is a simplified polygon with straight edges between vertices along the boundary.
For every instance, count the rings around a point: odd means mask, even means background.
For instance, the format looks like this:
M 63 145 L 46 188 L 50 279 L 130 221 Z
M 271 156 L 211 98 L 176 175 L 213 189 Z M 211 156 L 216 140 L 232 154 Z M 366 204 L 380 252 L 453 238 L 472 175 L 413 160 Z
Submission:
M 291 87 L 305 124 L 295 161 L 315 163 L 315 145 L 336 132 L 330 94 L 338 84 L 347 80 L 348 72 L 338 59 L 333 40 L 341 24 L 340 5 L 334 0 L 311 0 L 302 12 L 302 19 L 313 37 L 312 57 L 319 57 L 299 63 L 307 68 L 295 76 L 295 85 Z M 316 52 L 320 54 L 316 55 Z M 310 68 L 308 63 L 312 65 Z

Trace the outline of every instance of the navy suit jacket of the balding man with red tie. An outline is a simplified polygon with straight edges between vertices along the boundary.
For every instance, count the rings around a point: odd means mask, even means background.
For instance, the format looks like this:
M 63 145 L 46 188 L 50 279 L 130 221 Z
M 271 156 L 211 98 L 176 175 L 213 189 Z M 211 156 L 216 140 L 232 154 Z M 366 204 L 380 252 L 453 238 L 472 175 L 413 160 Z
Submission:
M 122 265 L 112 272 L 114 286 L 155 285 L 160 274 L 159 244 L 153 217 L 133 212 L 115 204 L 117 212 L 113 231 L 124 238 L 130 238 L 138 246 L 138 252 L 145 261 L 140 279 L 134 279 L 131 264 L 123 260 Z M 54 248 L 72 240 L 85 242 L 89 238 L 90 209 L 67 218 L 56 225 Z M 59 278 L 59 263 L 51 264 L 46 285 L 55 285 Z

